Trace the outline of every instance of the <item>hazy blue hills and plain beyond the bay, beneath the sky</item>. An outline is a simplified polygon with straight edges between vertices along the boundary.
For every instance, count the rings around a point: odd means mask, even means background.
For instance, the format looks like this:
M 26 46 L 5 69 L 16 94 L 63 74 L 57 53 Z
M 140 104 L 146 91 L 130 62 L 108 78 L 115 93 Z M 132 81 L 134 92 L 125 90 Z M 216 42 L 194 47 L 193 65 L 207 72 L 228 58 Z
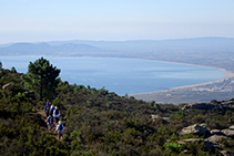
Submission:
M 234 38 L 8 43 L 0 55 L 109 56 L 183 62 L 234 72 Z

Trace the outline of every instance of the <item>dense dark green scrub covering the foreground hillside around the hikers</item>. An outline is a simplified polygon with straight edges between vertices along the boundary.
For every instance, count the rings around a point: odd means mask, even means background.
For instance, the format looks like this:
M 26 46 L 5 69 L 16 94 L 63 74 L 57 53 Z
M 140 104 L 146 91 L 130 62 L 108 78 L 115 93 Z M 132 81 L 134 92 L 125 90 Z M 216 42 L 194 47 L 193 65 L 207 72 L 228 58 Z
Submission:
M 60 82 L 52 104 L 61 110 L 65 126 L 63 141 L 49 134 L 38 97 L 22 94 L 21 74 L 0 71 L 0 86 L 12 83 L 11 90 L 0 90 L 0 155 L 82 155 L 82 156 L 155 156 L 215 155 L 204 144 L 180 145 L 175 141 L 202 137 L 180 136 L 184 126 L 206 123 L 208 128 L 225 128 L 234 124 L 234 110 L 182 111 L 181 105 L 143 102 L 132 96 L 119 96 L 105 89 Z M 152 119 L 152 114 L 169 117 Z M 234 149 L 234 142 L 224 143 Z

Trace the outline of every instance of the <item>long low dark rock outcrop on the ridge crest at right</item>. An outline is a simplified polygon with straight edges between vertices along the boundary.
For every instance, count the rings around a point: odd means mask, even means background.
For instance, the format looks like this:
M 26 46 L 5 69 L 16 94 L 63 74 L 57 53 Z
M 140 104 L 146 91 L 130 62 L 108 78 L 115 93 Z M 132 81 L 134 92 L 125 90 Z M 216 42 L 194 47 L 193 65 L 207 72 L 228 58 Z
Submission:
M 182 107 L 183 111 L 190 110 L 190 108 L 197 108 L 197 110 L 221 110 L 223 111 L 223 107 L 221 104 L 211 104 L 211 103 L 193 103 L 193 104 L 186 104 Z

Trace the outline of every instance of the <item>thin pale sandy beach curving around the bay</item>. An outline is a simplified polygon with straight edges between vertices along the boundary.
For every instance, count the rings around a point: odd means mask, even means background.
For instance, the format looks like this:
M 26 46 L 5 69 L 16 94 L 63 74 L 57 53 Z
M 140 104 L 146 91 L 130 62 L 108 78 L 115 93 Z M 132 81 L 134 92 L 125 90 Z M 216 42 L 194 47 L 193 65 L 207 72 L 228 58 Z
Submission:
M 157 61 L 157 60 L 155 60 L 155 61 Z M 162 61 L 162 62 L 164 62 L 164 61 Z M 173 63 L 181 63 L 181 62 L 173 62 Z M 182 63 L 182 64 L 197 65 L 197 64 L 190 64 L 190 63 Z M 199 84 L 192 84 L 192 85 L 171 87 L 171 89 L 164 90 L 164 91 L 130 94 L 130 96 L 135 96 L 136 98 L 144 98 L 144 97 L 141 97 L 141 96 L 145 96 L 145 95 L 146 96 L 149 96 L 149 95 L 153 96 L 154 94 L 162 93 L 162 92 L 167 92 L 167 91 L 183 90 L 183 89 L 193 89 L 193 87 L 204 86 L 204 85 L 207 85 L 207 84 L 214 84 L 214 83 L 222 82 L 223 80 L 227 80 L 230 77 L 234 77 L 234 73 L 232 71 L 227 71 L 225 69 L 220 69 L 220 67 L 214 67 L 214 66 L 205 66 L 205 65 L 197 65 L 197 66 L 213 67 L 213 69 L 221 70 L 222 72 L 225 73 L 225 76 L 223 79 L 220 79 L 220 80 L 216 80 L 216 81 L 212 81 L 212 82 L 205 82 L 205 83 L 199 83 Z

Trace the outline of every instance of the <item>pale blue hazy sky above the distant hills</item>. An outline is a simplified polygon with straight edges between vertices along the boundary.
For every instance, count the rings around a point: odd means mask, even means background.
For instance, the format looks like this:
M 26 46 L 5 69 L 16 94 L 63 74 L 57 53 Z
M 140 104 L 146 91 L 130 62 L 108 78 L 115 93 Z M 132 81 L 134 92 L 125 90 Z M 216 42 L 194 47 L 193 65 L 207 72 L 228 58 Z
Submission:
M 0 44 L 234 38 L 234 0 L 0 0 Z

